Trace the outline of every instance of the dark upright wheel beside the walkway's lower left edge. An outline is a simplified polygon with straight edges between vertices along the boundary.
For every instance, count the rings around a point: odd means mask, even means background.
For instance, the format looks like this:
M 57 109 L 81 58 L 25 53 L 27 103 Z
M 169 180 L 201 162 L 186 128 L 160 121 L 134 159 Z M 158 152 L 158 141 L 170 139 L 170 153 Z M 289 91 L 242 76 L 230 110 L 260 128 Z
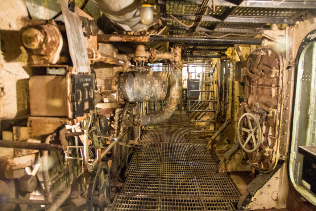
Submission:
M 86 211 L 103 211 L 110 205 L 110 182 L 110 169 L 107 164 L 97 164 L 89 183 Z

